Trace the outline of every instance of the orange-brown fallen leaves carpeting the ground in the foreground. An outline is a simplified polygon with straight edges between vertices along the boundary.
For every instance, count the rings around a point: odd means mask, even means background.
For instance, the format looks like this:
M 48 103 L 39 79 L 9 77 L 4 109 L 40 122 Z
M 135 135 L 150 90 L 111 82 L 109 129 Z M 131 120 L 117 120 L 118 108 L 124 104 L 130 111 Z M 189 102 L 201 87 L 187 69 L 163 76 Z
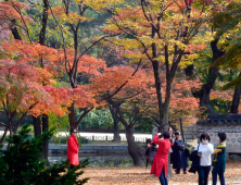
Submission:
M 90 185 L 158 185 L 158 178 L 150 174 L 151 168 L 87 168 L 83 177 L 90 177 Z M 174 170 L 172 170 L 174 173 Z M 226 185 L 241 185 L 241 162 L 227 162 L 225 172 Z M 198 173 L 174 174 L 168 177 L 169 185 L 194 185 L 198 184 Z M 212 173 L 210 182 L 212 184 Z M 219 182 L 217 183 L 219 184 Z

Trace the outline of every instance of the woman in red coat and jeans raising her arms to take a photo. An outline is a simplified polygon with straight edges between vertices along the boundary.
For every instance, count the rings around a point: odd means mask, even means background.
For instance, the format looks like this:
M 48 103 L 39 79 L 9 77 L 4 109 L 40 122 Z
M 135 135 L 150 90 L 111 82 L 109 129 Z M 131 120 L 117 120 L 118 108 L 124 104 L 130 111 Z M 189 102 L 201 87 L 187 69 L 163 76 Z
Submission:
M 154 174 L 160 178 L 162 185 L 168 185 L 167 182 L 167 164 L 168 152 L 170 148 L 169 132 L 164 131 L 162 138 L 161 133 L 156 134 L 153 141 L 158 145 L 158 149 L 155 153 L 155 158 L 152 163 L 151 174 Z

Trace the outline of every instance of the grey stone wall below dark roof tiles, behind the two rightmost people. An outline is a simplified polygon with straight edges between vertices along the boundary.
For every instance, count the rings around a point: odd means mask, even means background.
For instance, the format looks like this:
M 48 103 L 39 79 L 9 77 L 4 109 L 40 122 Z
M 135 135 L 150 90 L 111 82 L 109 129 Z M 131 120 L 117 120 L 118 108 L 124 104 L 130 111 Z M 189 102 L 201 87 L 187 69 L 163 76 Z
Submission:
M 241 125 L 236 125 L 236 126 L 198 125 L 199 135 L 201 135 L 204 132 L 211 136 L 211 144 L 213 144 L 214 147 L 216 147 L 218 144 L 217 133 L 225 132 L 227 135 L 227 140 L 226 140 L 227 153 L 229 152 L 241 153 Z

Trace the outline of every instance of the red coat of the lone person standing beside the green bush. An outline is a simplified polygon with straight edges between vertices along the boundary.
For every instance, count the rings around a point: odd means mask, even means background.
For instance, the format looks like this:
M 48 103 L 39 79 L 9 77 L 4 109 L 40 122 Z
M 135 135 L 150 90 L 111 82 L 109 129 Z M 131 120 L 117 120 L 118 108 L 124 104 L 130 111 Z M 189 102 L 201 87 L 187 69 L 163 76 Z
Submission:
M 69 160 L 69 164 L 78 165 L 78 140 L 75 136 L 71 135 L 67 140 L 67 159 Z

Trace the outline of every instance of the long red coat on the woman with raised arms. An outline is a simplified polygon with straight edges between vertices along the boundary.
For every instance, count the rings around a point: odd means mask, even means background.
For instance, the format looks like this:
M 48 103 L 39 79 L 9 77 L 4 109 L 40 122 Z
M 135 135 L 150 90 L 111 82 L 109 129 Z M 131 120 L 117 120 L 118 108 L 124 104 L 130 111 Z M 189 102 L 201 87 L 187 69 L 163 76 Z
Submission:
M 160 177 L 163 166 L 165 172 L 165 177 L 167 176 L 167 164 L 168 164 L 168 152 L 170 148 L 170 141 L 169 138 L 166 138 L 164 140 L 160 139 L 160 136 L 156 134 L 153 138 L 153 141 L 158 145 L 158 149 L 155 153 L 151 174 L 154 174 L 155 176 Z

